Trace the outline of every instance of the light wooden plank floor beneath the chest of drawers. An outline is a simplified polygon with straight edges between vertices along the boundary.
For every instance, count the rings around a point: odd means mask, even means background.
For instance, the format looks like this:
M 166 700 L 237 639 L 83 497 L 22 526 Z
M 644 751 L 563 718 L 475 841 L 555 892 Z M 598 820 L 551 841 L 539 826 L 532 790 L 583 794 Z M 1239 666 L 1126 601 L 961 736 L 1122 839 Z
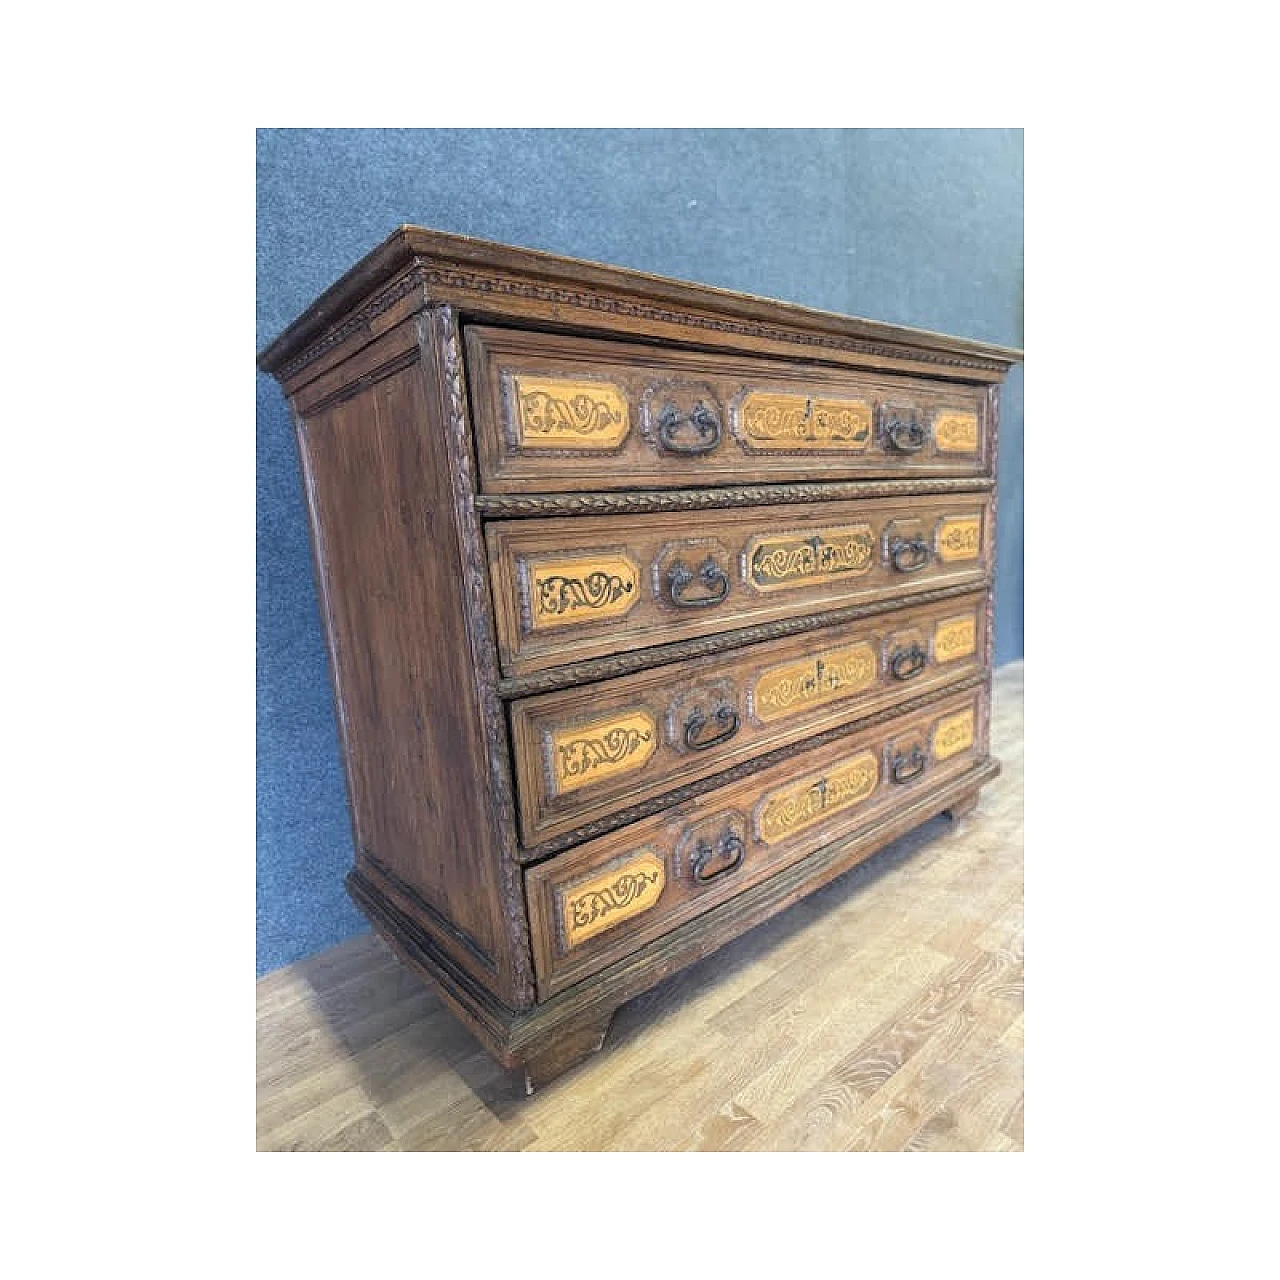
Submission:
M 1021 1151 L 1023 664 L 978 808 L 621 1009 L 530 1098 L 372 936 L 257 983 L 260 1151 Z

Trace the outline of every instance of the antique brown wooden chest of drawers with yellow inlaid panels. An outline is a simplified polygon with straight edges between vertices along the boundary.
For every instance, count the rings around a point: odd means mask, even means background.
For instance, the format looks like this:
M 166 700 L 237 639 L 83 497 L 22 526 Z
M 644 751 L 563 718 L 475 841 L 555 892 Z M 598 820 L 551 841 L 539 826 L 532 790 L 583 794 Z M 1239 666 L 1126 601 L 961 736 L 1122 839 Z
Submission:
M 988 754 L 1020 352 L 419 228 L 293 410 L 347 887 L 532 1088 Z

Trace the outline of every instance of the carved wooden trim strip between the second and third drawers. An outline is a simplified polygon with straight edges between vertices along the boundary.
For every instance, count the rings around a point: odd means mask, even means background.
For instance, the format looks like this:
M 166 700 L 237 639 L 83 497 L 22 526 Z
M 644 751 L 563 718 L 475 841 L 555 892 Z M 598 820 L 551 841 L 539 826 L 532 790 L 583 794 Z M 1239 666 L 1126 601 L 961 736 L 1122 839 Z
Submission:
M 881 613 L 891 613 L 893 609 L 905 609 L 908 605 L 933 604 L 937 600 L 955 599 L 957 595 L 972 595 L 989 585 L 989 577 L 980 577 L 972 582 L 961 582 L 959 586 L 897 595 L 888 600 L 873 600 L 868 604 L 850 604 L 841 609 L 828 609 L 824 613 L 801 613 L 794 618 L 778 618 L 774 622 L 744 627 L 741 631 L 695 636 L 692 640 L 677 640 L 675 644 L 655 645 L 652 649 L 611 654 L 608 658 L 588 658 L 564 667 L 535 671 L 527 676 L 508 676 L 498 681 L 498 692 L 503 698 L 526 698 L 529 694 L 545 694 L 553 689 L 567 689 L 570 685 L 586 685 L 595 680 L 608 680 L 612 676 L 628 676 L 632 671 L 646 671 L 649 667 L 660 667 L 668 662 L 684 662 L 689 658 L 704 658 L 712 653 L 727 653 L 732 649 L 741 649 L 744 645 L 758 644 L 762 640 L 800 635 L 817 627 L 835 626 L 837 622 L 873 618 Z

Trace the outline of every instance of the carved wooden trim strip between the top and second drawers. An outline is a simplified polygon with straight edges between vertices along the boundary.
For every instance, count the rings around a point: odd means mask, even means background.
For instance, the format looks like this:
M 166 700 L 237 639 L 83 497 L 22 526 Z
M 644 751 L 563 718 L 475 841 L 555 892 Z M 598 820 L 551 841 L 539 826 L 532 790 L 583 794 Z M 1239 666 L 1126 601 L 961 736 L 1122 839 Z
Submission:
M 653 511 L 710 511 L 718 507 L 772 507 L 836 502 L 842 498 L 896 498 L 900 494 L 987 493 L 989 476 L 919 480 L 833 480 L 826 484 L 742 485 L 730 489 L 652 489 L 635 493 L 485 493 L 476 509 L 492 520 L 521 516 L 640 515 Z

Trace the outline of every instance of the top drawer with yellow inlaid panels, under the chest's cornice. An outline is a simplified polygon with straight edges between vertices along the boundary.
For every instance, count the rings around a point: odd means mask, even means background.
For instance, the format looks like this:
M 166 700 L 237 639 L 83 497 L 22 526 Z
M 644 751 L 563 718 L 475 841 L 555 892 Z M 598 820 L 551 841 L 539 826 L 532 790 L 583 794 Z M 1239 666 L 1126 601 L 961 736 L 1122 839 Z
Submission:
M 466 342 L 492 493 L 989 471 L 986 388 L 516 329 Z

